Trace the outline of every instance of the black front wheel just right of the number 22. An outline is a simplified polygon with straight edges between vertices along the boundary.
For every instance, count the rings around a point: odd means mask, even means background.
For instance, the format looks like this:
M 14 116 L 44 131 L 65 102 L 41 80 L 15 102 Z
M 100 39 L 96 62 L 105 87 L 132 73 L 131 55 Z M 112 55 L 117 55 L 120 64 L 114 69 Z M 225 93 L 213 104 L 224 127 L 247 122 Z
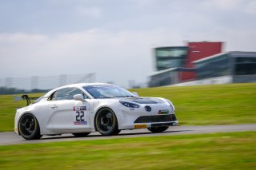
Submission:
M 95 128 L 103 136 L 117 135 L 118 119 L 109 108 L 100 109 L 95 117 Z

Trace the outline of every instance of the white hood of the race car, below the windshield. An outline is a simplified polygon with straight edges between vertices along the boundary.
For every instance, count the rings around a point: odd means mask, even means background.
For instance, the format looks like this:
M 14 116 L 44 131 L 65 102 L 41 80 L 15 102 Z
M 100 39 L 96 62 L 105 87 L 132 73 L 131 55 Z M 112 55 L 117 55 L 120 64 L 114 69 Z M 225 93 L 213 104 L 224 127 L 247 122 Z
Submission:
M 160 104 L 165 103 L 160 98 L 154 98 L 154 97 L 122 97 L 120 98 L 120 101 L 132 101 L 134 103 L 138 104 Z

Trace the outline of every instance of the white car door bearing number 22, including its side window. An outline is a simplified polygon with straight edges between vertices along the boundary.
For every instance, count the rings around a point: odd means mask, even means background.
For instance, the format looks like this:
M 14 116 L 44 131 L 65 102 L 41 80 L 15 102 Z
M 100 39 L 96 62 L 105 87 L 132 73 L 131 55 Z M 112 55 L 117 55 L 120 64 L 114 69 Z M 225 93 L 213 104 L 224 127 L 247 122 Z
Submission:
M 74 101 L 75 94 L 86 94 L 78 88 L 58 89 L 50 102 L 50 126 L 55 130 L 90 128 L 89 102 Z M 66 131 L 65 131 L 66 132 Z

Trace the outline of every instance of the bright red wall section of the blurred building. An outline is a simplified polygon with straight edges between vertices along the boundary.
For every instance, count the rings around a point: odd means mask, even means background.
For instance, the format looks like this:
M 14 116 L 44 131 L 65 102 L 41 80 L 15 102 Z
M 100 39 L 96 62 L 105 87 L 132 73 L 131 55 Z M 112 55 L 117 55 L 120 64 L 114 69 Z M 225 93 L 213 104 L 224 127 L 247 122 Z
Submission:
M 188 42 L 188 53 L 185 61 L 185 68 L 179 72 L 179 81 L 189 81 L 196 78 L 193 61 L 222 53 L 222 42 Z

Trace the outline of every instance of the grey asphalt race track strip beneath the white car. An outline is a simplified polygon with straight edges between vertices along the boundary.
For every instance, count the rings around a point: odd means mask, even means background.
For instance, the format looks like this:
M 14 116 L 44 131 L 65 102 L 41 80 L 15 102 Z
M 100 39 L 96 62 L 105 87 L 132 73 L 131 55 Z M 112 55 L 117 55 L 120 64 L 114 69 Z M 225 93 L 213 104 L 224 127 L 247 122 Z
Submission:
M 173 126 L 162 133 L 152 133 L 145 128 L 135 130 L 123 130 L 117 136 L 101 136 L 98 132 L 92 132 L 86 137 L 75 137 L 72 134 L 61 136 L 42 136 L 40 140 L 24 140 L 14 132 L 0 132 L 0 145 L 9 144 L 36 144 L 57 141 L 74 141 L 74 140 L 104 140 L 114 138 L 128 138 L 141 136 L 171 136 L 180 134 L 202 134 L 212 132 L 242 132 L 256 131 L 256 124 L 248 125 L 207 125 L 207 126 Z

